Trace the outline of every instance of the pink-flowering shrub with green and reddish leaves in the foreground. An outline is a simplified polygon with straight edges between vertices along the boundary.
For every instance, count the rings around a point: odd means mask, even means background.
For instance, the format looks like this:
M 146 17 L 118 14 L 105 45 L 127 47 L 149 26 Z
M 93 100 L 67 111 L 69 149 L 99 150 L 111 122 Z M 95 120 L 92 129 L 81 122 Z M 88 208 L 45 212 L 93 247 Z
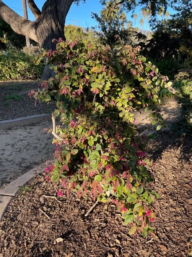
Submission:
M 61 182 L 58 195 L 72 190 L 103 203 L 112 199 L 124 225 L 131 225 L 129 233 L 139 229 L 145 237 L 147 231 L 154 232 L 150 205 L 158 195 L 149 185 L 153 176 L 144 162 L 133 111 L 145 107 L 152 111 L 149 117 L 157 130 L 163 127 L 158 91 L 172 89 L 172 83 L 139 51 L 127 45 L 111 50 L 59 39 L 56 51 L 43 52 L 55 78 L 42 81 L 38 92 L 29 95 L 57 106 L 49 131 L 57 145 L 50 174 L 51 180 Z M 57 116 L 62 125 L 55 130 Z

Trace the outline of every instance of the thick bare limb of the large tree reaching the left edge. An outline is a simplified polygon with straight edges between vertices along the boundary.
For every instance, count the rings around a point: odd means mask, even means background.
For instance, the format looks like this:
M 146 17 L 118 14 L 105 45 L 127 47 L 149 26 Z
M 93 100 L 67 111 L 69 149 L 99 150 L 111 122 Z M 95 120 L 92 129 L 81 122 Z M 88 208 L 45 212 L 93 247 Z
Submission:
M 34 22 L 24 19 L 11 8 L 9 8 L 6 4 L 4 4 L 1 0 L 0 18 L 6 21 L 16 33 L 27 36 L 38 42 Z

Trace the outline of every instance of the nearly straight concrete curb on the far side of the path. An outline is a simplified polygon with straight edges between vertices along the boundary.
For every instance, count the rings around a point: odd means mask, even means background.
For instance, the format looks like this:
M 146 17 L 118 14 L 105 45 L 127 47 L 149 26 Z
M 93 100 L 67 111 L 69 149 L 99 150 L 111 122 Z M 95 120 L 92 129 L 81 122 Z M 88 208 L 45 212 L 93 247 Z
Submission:
M 45 121 L 47 119 L 51 119 L 51 114 L 39 114 L 13 120 L 0 121 L 0 130 L 34 124 L 39 121 Z

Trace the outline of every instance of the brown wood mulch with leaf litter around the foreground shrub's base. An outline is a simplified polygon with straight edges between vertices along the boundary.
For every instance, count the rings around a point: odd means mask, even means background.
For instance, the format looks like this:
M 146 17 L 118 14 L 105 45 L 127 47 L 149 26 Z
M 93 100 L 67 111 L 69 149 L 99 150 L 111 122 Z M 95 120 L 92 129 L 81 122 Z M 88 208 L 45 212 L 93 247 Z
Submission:
M 192 256 L 191 142 L 168 132 L 148 140 L 148 165 L 160 195 L 154 203 L 156 236 L 129 236 L 112 203 L 98 204 L 84 217 L 89 200 L 73 193 L 59 201 L 44 197 L 56 196 L 61 186 L 42 174 L 28 183 L 28 193 L 20 191 L 11 201 L 0 223 L 0 256 Z

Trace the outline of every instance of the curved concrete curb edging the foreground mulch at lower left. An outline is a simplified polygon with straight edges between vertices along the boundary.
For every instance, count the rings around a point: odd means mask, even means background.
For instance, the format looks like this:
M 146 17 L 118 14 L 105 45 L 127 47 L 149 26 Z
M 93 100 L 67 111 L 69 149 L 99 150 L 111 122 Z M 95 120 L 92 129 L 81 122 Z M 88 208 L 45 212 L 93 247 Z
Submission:
M 11 199 L 15 196 L 21 186 L 24 186 L 29 182 L 34 176 L 40 174 L 46 168 L 46 163 L 40 164 L 35 168 L 29 170 L 27 173 L 23 174 L 16 180 L 9 183 L 1 192 L 0 192 L 0 220 L 3 218 L 7 207 Z

